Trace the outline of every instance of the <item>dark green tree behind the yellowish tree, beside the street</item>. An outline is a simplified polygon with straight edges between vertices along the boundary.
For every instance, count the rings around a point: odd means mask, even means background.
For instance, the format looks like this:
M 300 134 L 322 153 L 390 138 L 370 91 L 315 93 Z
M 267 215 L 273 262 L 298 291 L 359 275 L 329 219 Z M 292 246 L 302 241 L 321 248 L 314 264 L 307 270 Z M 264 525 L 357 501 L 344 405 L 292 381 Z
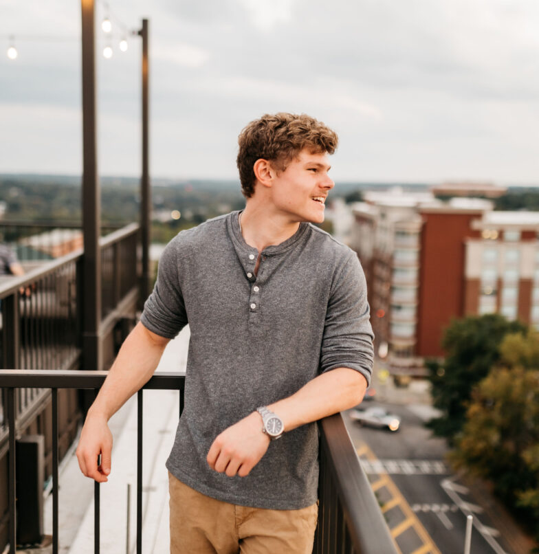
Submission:
M 466 406 L 472 388 L 487 376 L 500 359 L 499 346 L 507 333 L 525 331 L 520 322 L 509 322 L 498 314 L 454 320 L 445 331 L 442 346 L 447 353 L 443 363 L 426 364 L 432 384 L 432 403 L 441 417 L 428 426 L 450 442 L 465 422 Z

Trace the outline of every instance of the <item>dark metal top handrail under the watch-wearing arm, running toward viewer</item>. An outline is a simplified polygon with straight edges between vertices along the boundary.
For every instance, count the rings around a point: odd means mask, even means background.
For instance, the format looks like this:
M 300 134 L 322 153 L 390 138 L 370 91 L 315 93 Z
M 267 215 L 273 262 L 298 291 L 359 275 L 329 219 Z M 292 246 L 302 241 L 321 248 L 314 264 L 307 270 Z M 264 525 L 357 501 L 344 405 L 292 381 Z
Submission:
M 357 554 L 397 554 L 384 516 L 378 506 L 341 414 L 318 422 L 324 450 L 336 486 L 344 520 Z

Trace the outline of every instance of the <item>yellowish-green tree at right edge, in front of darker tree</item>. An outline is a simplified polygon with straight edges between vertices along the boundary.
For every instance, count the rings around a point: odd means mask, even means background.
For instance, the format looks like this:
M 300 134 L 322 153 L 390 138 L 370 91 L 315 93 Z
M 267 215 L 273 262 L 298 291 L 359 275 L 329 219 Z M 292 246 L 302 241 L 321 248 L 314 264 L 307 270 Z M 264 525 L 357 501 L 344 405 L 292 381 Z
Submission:
M 474 388 L 451 454 L 457 467 L 492 480 L 539 538 L 539 336 L 507 335 L 500 365 Z

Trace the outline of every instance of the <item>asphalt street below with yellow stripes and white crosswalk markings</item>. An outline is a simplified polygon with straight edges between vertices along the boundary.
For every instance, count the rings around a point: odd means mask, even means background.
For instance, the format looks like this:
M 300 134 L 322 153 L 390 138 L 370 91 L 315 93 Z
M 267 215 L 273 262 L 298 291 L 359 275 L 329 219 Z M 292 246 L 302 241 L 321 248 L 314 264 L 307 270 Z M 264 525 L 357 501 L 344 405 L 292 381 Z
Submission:
M 401 418 L 399 431 L 368 428 L 344 414 L 362 466 L 402 554 L 462 554 L 466 517 L 474 517 L 471 554 L 514 554 L 452 474 L 443 439 L 423 425 L 421 406 L 370 401 Z M 363 407 L 363 406 L 362 406 Z

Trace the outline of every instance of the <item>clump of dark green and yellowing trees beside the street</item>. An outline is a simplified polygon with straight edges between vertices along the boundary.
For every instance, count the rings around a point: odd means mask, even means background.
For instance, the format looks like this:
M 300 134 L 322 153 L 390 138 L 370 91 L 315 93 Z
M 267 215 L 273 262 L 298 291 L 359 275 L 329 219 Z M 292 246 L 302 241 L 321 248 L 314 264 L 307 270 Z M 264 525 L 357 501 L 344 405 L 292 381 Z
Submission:
M 428 362 L 445 436 L 457 468 L 489 480 L 539 540 L 539 333 L 501 315 L 455 320 L 443 363 Z

